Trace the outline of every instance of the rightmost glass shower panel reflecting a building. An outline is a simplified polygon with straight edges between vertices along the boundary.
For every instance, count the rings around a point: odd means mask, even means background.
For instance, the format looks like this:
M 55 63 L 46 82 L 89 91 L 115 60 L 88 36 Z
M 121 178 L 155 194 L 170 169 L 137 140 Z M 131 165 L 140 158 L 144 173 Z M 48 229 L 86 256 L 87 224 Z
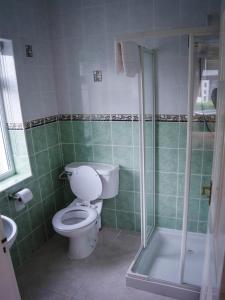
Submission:
M 191 165 L 183 282 L 201 286 L 219 81 L 217 36 L 194 37 L 193 80 Z

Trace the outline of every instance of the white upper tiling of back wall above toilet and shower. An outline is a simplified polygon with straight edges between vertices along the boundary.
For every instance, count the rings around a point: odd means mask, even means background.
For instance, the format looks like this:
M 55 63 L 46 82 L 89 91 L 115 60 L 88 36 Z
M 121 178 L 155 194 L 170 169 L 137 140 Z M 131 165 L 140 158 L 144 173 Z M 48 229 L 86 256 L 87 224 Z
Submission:
M 204 26 L 208 14 L 219 13 L 219 3 L 219 0 L 49 0 L 59 111 L 137 113 L 137 78 L 115 74 L 115 36 L 149 29 Z M 186 113 L 187 40 L 157 43 L 158 112 Z M 93 83 L 94 70 L 103 71 L 102 83 Z

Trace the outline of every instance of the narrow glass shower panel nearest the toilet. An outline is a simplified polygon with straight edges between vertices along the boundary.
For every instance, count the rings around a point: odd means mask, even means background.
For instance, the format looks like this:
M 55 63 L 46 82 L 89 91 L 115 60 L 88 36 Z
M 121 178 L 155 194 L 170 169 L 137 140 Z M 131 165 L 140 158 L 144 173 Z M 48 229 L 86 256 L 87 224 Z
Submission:
M 140 47 L 141 225 L 145 247 L 155 227 L 155 98 L 156 52 Z

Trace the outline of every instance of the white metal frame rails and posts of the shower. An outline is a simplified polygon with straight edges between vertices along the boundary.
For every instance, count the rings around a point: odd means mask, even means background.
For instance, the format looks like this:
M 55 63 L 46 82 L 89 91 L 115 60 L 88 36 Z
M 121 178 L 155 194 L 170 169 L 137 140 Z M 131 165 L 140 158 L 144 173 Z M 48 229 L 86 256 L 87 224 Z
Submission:
M 188 206 L 189 206 L 189 192 L 190 192 L 190 171 L 191 171 L 191 150 L 192 150 L 192 121 L 193 121 L 193 94 L 194 94 L 194 37 L 197 36 L 208 36 L 208 35 L 218 35 L 218 26 L 204 26 L 204 27 L 184 27 L 168 30 L 152 30 L 146 32 L 132 32 L 125 33 L 116 37 L 117 41 L 138 41 L 143 38 L 160 38 L 160 37 L 178 37 L 178 36 L 188 36 L 189 38 L 189 53 L 188 53 L 188 123 L 187 123 L 187 147 L 186 147 L 186 163 L 185 163 L 185 182 L 184 182 L 184 208 L 183 208 L 183 227 L 182 227 L 182 242 L 181 242 L 181 255 L 180 255 L 180 284 L 183 284 L 184 278 L 184 268 L 185 268 L 185 254 L 187 245 L 187 224 L 188 224 Z M 152 51 L 148 49 L 148 51 Z M 140 51 L 141 52 L 141 51 Z M 141 133 L 141 214 L 142 214 L 142 224 L 141 224 L 141 249 L 146 247 L 147 241 L 151 236 L 151 233 L 146 236 L 146 205 L 145 197 L 143 196 L 144 186 L 144 172 L 143 167 L 145 165 L 145 155 L 144 155 L 144 132 L 143 132 L 143 121 L 144 121 L 144 97 L 143 97 L 143 60 L 141 57 L 141 75 L 139 75 L 139 101 L 140 101 L 140 133 Z M 154 93 L 156 94 L 156 93 Z M 156 99 L 155 99 L 156 101 Z M 153 104 L 155 109 L 155 103 Z M 153 111 L 155 115 L 155 111 Z M 155 147 L 154 147 L 155 148 Z M 155 193 L 154 193 L 155 194 Z M 155 197 L 155 195 L 154 195 Z M 145 210 L 145 211 L 144 211 Z M 154 212 L 155 214 L 155 212 Z M 155 216 L 154 216 L 155 218 Z M 154 230 L 154 226 L 153 226 Z M 141 250 L 140 249 L 140 250 Z M 141 251 L 139 251 L 140 254 Z M 138 255 L 136 256 L 136 259 Z M 132 263 L 132 265 L 135 261 Z M 132 268 L 129 268 L 129 272 L 132 273 Z M 134 273 L 133 273 L 134 274 Z M 141 274 L 139 274 L 141 275 Z M 143 277 L 143 276 L 142 276 Z

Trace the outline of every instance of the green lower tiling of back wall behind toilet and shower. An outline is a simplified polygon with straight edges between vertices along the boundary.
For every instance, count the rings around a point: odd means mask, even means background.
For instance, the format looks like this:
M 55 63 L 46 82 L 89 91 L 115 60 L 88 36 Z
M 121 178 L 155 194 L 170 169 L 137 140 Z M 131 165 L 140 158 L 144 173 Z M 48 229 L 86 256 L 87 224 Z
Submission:
M 162 227 L 181 229 L 182 226 L 186 124 L 157 122 L 156 126 L 156 222 Z M 138 126 L 135 121 L 60 122 L 64 164 L 76 160 L 120 165 L 120 192 L 115 199 L 104 201 L 103 224 L 137 231 L 140 230 Z M 150 127 L 151 122 L 147 122 L 147 134 Z M 194 123 L 194 130 L 188 229 L 205 232 L 208 201 L 201 195 L 201 187 L 210 182 L 213 133 L 207 133 L 200 122 Z M 146 145 L 147 197 L 151 206 L 149 136 Z

